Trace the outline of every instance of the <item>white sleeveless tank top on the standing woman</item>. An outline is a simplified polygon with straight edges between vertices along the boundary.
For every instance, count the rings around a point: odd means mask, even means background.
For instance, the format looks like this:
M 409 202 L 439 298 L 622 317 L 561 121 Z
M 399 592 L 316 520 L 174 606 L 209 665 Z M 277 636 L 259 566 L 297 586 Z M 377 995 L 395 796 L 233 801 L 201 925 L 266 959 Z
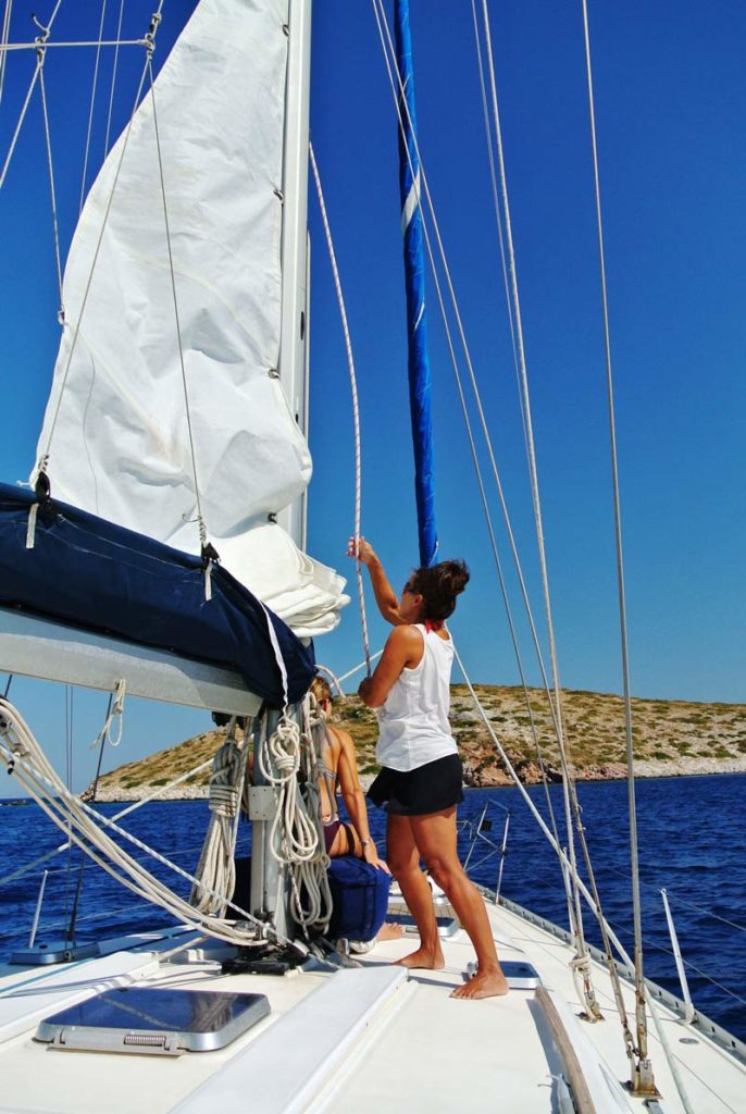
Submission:
M 453 642 L 421 623 L 415 628 L 424 641 L 422 658 L 402 670 L 379 709 L 376 760 L 402 772 L 459 753 L 448 722 Z

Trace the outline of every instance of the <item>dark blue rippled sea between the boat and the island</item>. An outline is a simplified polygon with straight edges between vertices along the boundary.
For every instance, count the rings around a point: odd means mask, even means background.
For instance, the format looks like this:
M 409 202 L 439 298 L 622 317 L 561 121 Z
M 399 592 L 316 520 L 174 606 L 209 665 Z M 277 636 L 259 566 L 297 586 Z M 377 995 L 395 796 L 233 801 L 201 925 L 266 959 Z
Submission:
M 543 789 L 533 786 L 530 793 L 546 815 Z M 550 793 L 560 824 L 560 786 L 551 786 Z M 631 952 L 627 786 L 621 782 L 580 784 L 578 794 L 606 917 Z M 469 824 L 475 827 L 485 804 L 491 820 L 485 834 L 494 843 L 501 843 L 510 814 L 502 893 L 567 927 L 557 859 L 517 790 L 467 791 L 459 812 L 462 857 L 469 850 Z M 114 815 L 121 807 L 100 808 Z M 660 896 L 666 888 L 695 1006 L 742 1040 L 746 1040 L 745 815 L 744 774 L 654 779 L 637 785 L 645 973 L 680 995 Z M 126 817 L 122 824 L 190 872 L 199 858 L 208 818 L 206 801 L 154 802 Z M 371 810 L 371 828 L 381 840 L 384 819 Z M 239 854 L 248 853 L 249 836 L 248 823 L 242 822 Z M 60 842 L 60 832 L 37 805 L 0 801 L 0 879 Z M 494 887 L 498 859 L 484 859 L 489 852 L 489 846 L 478 840 L 470 873 L 482 885 Z M 62 934 L 80 878 L 81 856 L 65 852 L 45 866 L 50 872 L 37 942 Z M 0 959 L 28 942 L 43 869 L 39 866 L 23 878 L 0 885 Z M 188 883 L 178 876 L 157 862 L 150 869 L 187 893 Z M 588 912 L 587 932 L 598 942 Z M 86 860 L 77 920 L 79 940 L 169 922 L 161 910 L 121 889 Z

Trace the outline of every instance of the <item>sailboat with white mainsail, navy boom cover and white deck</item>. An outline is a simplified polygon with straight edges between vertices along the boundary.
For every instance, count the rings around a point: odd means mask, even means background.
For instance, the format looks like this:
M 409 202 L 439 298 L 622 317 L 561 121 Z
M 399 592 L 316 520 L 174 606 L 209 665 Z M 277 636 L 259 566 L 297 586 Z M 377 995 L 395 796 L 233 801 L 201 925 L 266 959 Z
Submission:
M 671 996 L 636 995 L 628 960 L 579 955 L 577 924 L 562 934 L 485 895 L 511 994 L 473 1006 L 446 993 L 471 951 L 445 907 L 442 971 L 392 965 L 406 942 L 351 961 L 314 940 L 328 912 L 304 921 L 323 887 L 313 823 L 294 860 L 287 831 L 277 834 L 291 804 L 307 815 L 296 801 L 303 721 L 291 709 L 313 674 L 308 639 L 345 603 L 338 574 L 304 551 L 311 4 L 202 0 L 150 85 L 159 18 L 160 8 L 138 36 L 139 107 L 68 256 L 31 490 L 0 492 L 0 668 L 110 692 L 104 737 L 127 694 L 254 717 L 266 758 L 248 802 L 249 908 L 204 879 L 224 916 L 177 902 L 119 853 L 3 702 L 11 772 L 70 840 L 179 924 L 95 955 L 3 966 L 0 1103 L 738 1110 L 738 1043 L 684 1029 Z M 236 744 L 238 773 L 245 751 Z M 629 1033 L 640 994 L 655 1019 L 647 1048 Z

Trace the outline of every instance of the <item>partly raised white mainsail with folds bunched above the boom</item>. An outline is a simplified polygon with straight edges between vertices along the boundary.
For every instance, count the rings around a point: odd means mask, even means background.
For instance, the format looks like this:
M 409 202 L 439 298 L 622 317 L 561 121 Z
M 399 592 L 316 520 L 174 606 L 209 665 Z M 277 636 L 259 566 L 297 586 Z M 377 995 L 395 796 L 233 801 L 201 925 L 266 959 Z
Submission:
M 344 580 L 271 520 L 312 471 L 277 377 L 287 14 L 203 0 L 155 114 L 148 94 L 107 157 L 66 266 L 38 459 L 58 499 L 190 553 L 196 472 L 223 564 L 313 635 Z

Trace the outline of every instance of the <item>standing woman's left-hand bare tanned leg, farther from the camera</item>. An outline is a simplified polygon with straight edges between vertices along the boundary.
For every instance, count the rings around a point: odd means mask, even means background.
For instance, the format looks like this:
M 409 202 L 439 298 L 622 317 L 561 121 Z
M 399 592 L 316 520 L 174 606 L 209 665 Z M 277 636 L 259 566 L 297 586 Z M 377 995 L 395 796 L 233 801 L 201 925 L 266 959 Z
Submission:
M 389 814 L 386 861 L 420 932 L 420 947 L 400 959 L 399 964 L 402 967 L 425 967 L 429 970 L 443 967 L 432 890 L 420 869 L 420 853 L 412 836 L 410 817 Z

